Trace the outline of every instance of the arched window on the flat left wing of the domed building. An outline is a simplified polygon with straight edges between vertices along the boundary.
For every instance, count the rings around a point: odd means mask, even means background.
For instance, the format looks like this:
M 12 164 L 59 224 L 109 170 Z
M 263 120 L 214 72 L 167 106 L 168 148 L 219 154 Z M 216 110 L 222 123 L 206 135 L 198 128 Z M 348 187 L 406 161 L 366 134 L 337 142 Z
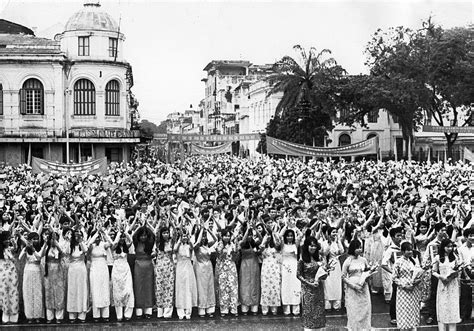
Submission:
M 44 114 L 43 84 L 36 78 L 30 78 L 23 83 L 20 90 L 20 114 Z

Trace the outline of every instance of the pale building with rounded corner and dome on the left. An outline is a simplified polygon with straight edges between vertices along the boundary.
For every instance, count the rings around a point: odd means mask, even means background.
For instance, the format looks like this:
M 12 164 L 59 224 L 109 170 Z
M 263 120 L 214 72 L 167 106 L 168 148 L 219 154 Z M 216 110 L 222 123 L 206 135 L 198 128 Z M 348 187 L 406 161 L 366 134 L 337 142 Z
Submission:
M 127 161 L 140 138 L 124 40 L 97 3 L 54 40 L 0 20 L 0 162 Z

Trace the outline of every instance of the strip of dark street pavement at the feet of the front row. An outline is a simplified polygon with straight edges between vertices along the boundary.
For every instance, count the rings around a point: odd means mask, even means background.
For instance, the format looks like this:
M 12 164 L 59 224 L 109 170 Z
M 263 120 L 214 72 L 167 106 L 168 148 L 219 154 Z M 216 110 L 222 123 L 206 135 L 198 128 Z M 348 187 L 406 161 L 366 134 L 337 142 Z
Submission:
M 383 301 L 383 296 L 372 295 L 372 327 L 374 330 L 392 331 L 397 330 L 390 325 L 390 316 L 388 314 L 389 305 Z M 113 309 L 112 309 L 113 310 Z M 326 316 L 326 330 L 339 331 L 344 330 L 347 318 L 344 311 L 330 312 Z M 109 323 L 93 323 L 87 320 L 84 324 L 18 324 L 18 325 L 1 325 L 2 330 L 61 330 L 61 331 L 86 331 L 86 330 L 177 330 L 177 331 L 199 331 L 199 330 L 302 330 L 301 320 L 299 317 L 278 316 L 239 316 L 239 317 L 220 317 L 216 315 L 214 318 L 199 318 L 193 314 L 191 320 L 178 320 L 172 318 L 169 320 L 152 318 L 149 320 L 132 320 L 130 322 L 114 322 Z M 426 325 L 422 317 L 422 325 L 418 328 L 423 331 L 438 330 L 436 325 Z M 474 330 L 474 320 L 458 324 L 458 331 Z

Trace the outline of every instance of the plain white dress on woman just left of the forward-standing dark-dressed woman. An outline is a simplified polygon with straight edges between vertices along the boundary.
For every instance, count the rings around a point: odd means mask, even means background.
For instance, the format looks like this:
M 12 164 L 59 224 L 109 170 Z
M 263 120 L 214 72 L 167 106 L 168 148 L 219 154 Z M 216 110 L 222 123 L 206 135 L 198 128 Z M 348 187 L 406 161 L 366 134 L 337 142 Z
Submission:
M 299 305 L 301 282 L 296 278 L 298 270 L 296 245 L 284 244 L 281 250 L 281 302 L 283 305 Z

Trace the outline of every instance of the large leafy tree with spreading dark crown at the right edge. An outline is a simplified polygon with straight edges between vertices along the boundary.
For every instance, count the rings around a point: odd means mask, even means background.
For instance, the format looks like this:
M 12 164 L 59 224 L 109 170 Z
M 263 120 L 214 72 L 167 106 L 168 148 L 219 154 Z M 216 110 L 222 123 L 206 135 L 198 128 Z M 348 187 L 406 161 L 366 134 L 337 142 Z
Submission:
M 374 104 L 399 116 L 404 136 L 411 136 L 425 116 L 439 126 L 471 124 L 473 35 L 472 27 L 445 30 L 431 18 L 418 30 L 396 27 L 373 35 L 366 49 L 370 77 L 364 88 L 381 96 Z M 445 137 L 451 156 L 458 134 Z

